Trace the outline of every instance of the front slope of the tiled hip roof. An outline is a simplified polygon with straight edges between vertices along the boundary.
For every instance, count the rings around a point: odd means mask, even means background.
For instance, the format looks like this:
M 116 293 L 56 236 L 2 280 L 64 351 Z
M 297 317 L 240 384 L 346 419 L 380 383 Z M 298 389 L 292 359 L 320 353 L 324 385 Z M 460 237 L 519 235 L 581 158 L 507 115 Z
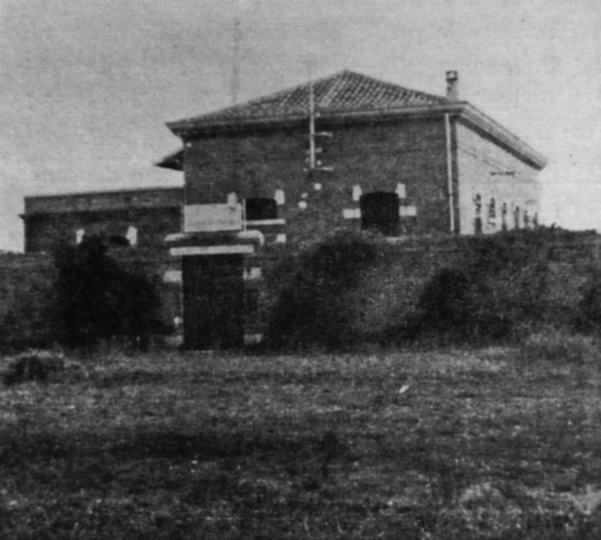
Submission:
M 449 102 L 446 98 L 437 95 L 384 83 L 348 70 L 319 78 L 312 84 L 315 110 L 321 115 L 444 105 Z M 180 130 L 211 124 L 235 123 L 236 121 L 252 122 L 255 119 L 285 119 L 306 116 L 309 110 L 309 86 L 307 82 L 263 98 L 210 112 L 207 115 L 178 120 L 167 125 L 171 129 Z

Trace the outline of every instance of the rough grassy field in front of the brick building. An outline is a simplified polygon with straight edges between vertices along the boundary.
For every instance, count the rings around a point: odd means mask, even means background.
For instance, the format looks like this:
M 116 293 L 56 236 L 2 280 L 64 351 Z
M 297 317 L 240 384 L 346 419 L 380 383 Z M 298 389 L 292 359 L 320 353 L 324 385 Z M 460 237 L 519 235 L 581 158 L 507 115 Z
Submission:
M 598 539 L 600 374 L 551 360 L 113 353 L 0 385 L 0 538 Z

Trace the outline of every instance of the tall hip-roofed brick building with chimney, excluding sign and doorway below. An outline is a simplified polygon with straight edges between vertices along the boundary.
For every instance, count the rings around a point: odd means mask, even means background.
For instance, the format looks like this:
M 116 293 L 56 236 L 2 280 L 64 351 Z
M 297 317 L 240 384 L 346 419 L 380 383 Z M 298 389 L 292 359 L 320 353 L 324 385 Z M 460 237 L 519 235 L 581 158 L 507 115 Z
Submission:
M 493 233 L 537 221 L 545 158 L 458 98 L 341 71 L 171 122 L 188 205 L 246 202 L 246 221 L 297 240 L 333 228 L 389 236 Z M 252 228 L 252 223 L 247 223 Z

